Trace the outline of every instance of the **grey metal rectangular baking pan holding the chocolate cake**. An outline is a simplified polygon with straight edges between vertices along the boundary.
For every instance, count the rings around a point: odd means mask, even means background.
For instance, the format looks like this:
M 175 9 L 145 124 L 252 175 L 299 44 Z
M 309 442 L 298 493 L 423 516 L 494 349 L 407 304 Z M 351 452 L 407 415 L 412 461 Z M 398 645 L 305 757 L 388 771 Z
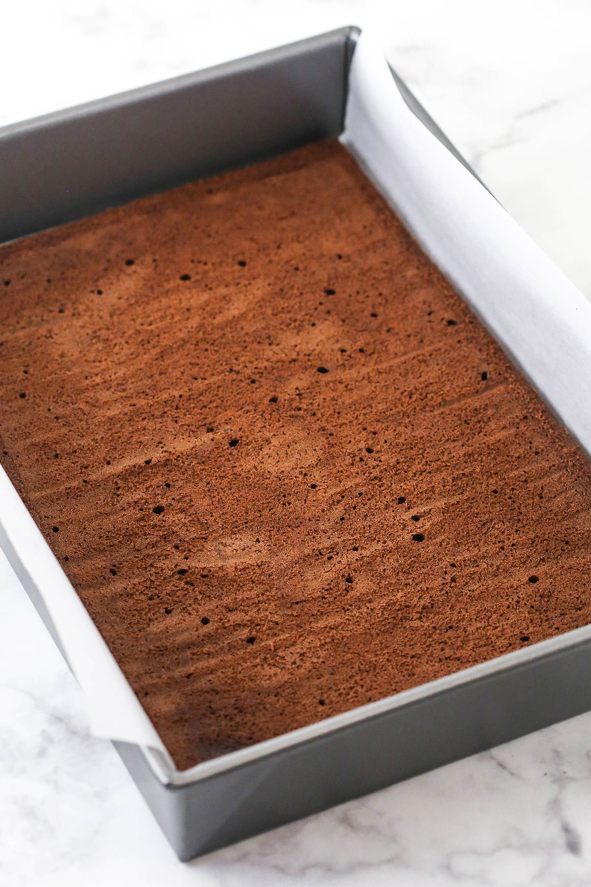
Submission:
M 0 241 L 338 136 L 358 34 L 346 27 L 0 130 Z M 0 546 L 59 646 L 1 526 Z M 190 770 L 113 744 L 189 860 L 589 709 L 587 626 Z

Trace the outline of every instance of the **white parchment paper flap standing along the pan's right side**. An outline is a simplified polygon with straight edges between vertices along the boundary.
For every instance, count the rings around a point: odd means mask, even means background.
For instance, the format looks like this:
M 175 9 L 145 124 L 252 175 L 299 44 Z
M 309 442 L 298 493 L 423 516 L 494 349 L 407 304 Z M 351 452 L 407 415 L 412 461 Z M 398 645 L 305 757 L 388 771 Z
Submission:
M 416 119 L 367 32 L 341 141 L 590 452 L 591 302 Z

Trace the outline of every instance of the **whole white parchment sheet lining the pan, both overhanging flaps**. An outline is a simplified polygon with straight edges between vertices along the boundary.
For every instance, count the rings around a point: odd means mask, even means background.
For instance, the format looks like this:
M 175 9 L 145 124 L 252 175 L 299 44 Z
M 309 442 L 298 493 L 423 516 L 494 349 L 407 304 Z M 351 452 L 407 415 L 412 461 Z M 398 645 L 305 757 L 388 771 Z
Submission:
M 591 303 L 417 121 L 384 55 L 356 45 L 341 141 L 457 290 L 591 451 Z M 41 594 L 82 687 L 93 734 L 161 740 L 0 467 L 0 524 Z

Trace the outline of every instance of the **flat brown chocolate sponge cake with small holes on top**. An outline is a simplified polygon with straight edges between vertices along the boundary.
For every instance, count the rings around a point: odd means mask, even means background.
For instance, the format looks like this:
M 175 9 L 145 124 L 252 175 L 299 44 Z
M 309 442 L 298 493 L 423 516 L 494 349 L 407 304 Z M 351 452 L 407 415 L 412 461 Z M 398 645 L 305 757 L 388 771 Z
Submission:
M 589 622 L 587 458 L 337 142 L 0 292 L 3 465 L 180 767 Z

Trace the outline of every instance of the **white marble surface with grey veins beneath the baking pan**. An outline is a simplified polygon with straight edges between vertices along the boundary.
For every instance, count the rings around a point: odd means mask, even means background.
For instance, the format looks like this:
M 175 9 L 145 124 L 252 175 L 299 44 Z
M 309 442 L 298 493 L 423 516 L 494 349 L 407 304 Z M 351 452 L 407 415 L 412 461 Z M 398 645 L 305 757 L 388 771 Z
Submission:
M 4 3 L 0 125 L 352 23 L 591 298 L 586 0 Z M 588 884 L 591 715 L 181 865 L 0 556 L 0 883 Z

